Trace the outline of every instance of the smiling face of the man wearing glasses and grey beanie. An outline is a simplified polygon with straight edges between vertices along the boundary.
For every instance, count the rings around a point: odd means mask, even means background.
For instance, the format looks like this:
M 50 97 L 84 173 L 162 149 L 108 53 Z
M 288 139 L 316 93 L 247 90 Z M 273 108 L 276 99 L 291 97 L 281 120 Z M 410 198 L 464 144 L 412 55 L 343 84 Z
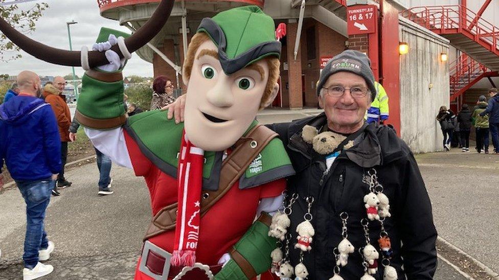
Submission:
M 367 88 L 364 78 L 350 72 L 338 72 L 329 76 L 324 88 L 341 86 L 343 88 Z M 319 105 L 324 108 L 328 123 L 334 127 L 354 128 L 364 122 L 366 110 L 371 105 L 371 94 L 365 97 L 354 98 L 349 90 L 345 90 L 340 97 L 332 97 L 325 91 L 323 97 L 319 96 Z

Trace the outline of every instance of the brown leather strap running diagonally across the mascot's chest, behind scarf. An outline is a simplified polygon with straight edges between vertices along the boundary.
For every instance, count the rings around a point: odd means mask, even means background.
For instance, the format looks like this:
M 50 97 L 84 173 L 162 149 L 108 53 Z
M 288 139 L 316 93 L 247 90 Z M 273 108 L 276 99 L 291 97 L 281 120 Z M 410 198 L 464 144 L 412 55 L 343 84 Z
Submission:
M 245 137 L 241 137 L 237 141 L 236 148 L 222 163 L 218 190 L 203 191 L 201 195 L 201 217 L 230 190 L 231 186 L 246 171 L 251 162 L 276 136 L 277 133 L 266 128 L 266 126 L 256 125 Z M 144 241 L 173 230 L 175 228 L 176 210 L 177 203 L 174 203 L 157 212 L 147 230 Z

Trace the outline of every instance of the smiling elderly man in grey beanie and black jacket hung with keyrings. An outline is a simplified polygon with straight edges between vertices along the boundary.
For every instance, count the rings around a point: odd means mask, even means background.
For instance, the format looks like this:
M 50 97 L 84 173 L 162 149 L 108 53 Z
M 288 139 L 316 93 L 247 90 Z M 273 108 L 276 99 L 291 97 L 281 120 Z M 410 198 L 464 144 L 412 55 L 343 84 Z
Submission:
M 437 266 L 432 206 L 409 147 L 388 126 L 364 120 L 376 94 L 369 65 L 369 58 L 355 50 L 335 56 L 317 84 L 324 113 L 269 126 L 296 170 L 287 181 L 288 197 L 298 198 L 292 212 L 285 211 L 291 212 L 291 235 L 284 244 L 292 248 L 298 240 L 297 247 L 311 247 L 305 253 L 289 249 L 289 264 L 304 264 L 308 279 L 369 280 L 383 274 L 385 279 L 432 279 Z M 183 99 L 170 106 L 169 117 L 183 119 Z M 331 141 L 335 145 L 325 154 L 303 139 L 306 130 L 345 140 Z M 326 137 L 322 141 L 328 143 Z M 305 219 L 314 228 L 313 242 L 299 230 Z

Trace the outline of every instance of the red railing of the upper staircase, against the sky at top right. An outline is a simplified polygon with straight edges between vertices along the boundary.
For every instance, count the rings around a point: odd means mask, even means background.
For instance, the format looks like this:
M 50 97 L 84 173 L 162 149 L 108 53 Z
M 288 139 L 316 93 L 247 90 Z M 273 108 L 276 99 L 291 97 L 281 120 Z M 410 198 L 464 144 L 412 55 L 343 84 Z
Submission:
M 400 13 L 420 26 L 439 34 L 468 32 L 468 37 L 485 42 L 499 55 L 499 28 L 461 5 L 414 7 Z M 449 32 L 450 31 L 450 32 Z

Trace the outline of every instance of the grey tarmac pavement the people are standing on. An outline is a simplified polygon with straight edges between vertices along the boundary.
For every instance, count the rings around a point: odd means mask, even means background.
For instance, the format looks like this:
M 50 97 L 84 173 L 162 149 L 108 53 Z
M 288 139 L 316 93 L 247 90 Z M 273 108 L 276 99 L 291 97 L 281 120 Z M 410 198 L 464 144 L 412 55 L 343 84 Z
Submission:
M 261 122 L 297 119 L 316 112 L 265 110 Z M 499 246 L 499 221 L 492 211 L 499 182 L 490 166 L 499 156 L 461 155 L 439 152 L 417 157 L 432 198 L 439 235 L 470 253 L 495 271 L 499 258 L 491 248 Z M 454 162 L 464 162 L 463 167 Z M 444 163 L 442 163 L 444 162 Z M 447 165 L 445 165 L 447 164 Z M 49 238 L 55 243 L 50 261 L 54 272 L 43 279 L 131 279 L 142 237 L 151 218 L 150 200 L 143 179 L 131 170 L 113 165 L 114 194 L 98 196 L 95 163 L 66 171 L 73 182 L 52 197 L 46 218 Z M 16 188 L 0 195 L 0 279 L 22 277 L 22 248 L 25 235 L 25 203 Z M 466 279 L 439 260 L 435 279 Z

